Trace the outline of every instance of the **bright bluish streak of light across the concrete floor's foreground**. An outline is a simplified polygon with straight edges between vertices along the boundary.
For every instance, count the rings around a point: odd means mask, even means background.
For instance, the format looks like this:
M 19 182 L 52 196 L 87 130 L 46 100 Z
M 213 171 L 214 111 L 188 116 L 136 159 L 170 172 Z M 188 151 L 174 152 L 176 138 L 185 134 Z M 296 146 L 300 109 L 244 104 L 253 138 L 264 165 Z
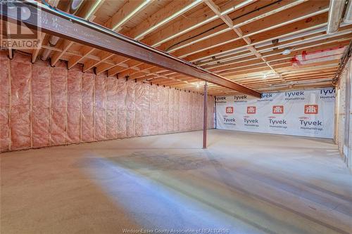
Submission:
M 106 192 L 108 198 L 123 207 L 141 228 L 224 228 L 230 230 L 230 233 L 258 233 L 250 227 L 233 223 L 232 219 L 227 219 L 221 212 L 148 176 L 163 176 L 165 171 L 127 169 L 128 167 L 99 157 L 95 157 L 89 164 L 93 164 L 92 167 L 85 168 L 92 180 Z

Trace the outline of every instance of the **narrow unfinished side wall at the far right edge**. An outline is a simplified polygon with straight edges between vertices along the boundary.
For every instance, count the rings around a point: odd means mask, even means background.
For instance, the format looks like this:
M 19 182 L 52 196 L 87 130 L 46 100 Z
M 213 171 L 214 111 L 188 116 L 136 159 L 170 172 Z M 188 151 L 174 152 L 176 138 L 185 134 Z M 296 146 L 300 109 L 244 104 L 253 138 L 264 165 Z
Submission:
M 337 84 L 335 143 L 352 170 L 352 60 L 348 60 Z

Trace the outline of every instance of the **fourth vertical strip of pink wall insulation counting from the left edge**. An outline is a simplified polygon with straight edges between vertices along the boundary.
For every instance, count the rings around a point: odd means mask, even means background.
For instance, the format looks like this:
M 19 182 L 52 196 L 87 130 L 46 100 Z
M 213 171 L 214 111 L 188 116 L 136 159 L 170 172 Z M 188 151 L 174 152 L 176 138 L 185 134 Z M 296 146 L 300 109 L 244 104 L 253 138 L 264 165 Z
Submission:
M 65 63 L 51 67 L 51 145 L 66 143 L 67 72 Z

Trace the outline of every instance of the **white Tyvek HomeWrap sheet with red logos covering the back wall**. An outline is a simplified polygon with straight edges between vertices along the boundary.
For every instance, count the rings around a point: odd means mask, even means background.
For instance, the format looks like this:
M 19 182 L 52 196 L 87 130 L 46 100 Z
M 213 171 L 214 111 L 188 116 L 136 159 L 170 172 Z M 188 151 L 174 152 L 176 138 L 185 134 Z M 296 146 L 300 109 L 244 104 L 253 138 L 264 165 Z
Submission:
M 216 96 L 216 128 L 333 138 L 335 90 L 313 89 Z

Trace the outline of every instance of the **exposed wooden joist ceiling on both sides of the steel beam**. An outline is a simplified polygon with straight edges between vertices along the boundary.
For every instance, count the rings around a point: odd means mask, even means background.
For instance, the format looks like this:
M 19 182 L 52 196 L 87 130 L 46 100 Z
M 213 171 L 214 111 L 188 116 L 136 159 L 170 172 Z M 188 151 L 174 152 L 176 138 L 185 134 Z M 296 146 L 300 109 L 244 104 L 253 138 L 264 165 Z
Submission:
M 49 4 L 64 10 L 68 3 Z M 76 15 L 250 89 L 275 91 L 332 86 L 339 55 L 292 63 L 303 53 L 349 44 L 351 25 L 327 33 L 329 9 L 329 0 L 96 0 L 84 1 Z M 200 79 L 67 39 L 50 46 L 49 37 L 42 34 L 42 48 L 25 51 L 32 53 L 33 62 L 50 50 L 51 65 L 66 60 L 68 68 L 80 64 L 84 72 L 94 68 L 97 74 L 202 92 Z M 236 92 L 209 84 L 208 93 Z

